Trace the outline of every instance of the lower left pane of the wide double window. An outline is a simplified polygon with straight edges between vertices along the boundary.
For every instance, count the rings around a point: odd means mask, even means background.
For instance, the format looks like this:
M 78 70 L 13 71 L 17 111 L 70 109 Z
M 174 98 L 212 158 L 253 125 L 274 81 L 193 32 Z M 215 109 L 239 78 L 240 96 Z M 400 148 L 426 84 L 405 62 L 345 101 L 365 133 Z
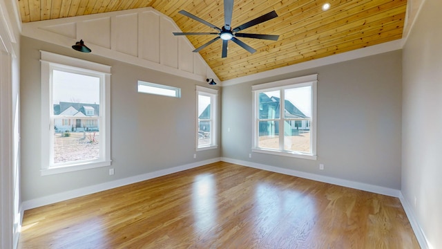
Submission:
M 279 149 L 279 121 L 260 121 L 258 147 Z

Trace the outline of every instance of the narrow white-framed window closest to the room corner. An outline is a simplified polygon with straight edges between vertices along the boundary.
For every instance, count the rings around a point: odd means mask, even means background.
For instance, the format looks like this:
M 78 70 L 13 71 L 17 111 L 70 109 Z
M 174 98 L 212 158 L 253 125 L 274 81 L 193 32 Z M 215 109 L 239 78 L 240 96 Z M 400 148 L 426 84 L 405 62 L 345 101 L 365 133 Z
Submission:
M 197 150 L 218 147 L 216 139 L 218 90 L 196 86 L 197 91 Z

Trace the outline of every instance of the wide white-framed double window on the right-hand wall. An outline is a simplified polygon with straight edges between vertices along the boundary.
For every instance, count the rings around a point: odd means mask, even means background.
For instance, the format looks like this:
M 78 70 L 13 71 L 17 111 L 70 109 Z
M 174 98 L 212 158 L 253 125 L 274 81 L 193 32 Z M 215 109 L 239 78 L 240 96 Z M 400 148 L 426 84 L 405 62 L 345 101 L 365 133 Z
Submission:
M 316 160 L 317 75 L 252 86 L 253 151 Z

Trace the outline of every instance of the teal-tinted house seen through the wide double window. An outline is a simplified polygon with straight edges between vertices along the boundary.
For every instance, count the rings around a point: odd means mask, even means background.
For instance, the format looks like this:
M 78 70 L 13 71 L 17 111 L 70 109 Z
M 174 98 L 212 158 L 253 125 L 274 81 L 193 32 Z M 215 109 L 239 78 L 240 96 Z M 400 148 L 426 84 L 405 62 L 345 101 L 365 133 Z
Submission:
M 280 113 L 280 98 L 272 96 L 269 98 L 265 93 L 260 93 L 260 119 L 274 119 L 279 118 Z M 294 118 L 298 120 L 291 120 L 286 122 L 289 124 L 285 126 L 285 135 L 297 135 L 300 131 L 310 130 L 310 117 L 307 117 L 289 100 L 285 100 L 285 117 Z M 260 122 L 259 125 L 260 136 L 277 135 L 279 134 L 279 127 L 273 121 Z

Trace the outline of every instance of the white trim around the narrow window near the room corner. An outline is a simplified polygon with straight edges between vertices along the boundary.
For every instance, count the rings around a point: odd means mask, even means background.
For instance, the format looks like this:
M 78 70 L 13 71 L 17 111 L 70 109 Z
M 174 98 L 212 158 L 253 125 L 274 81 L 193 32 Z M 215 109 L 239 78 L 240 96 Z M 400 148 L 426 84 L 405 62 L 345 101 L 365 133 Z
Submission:
M 209 93 L 207 96 L 212 97 L 213 96 L 213 104 L 211 104 L 211 115 L 213 116 L 213 125 L 211 127 L 211 145 L 205 145 L 205 146 L 198 146 L 198 95 L 204 95 L 204 93 Z M 196 125 L 195 125 L 195 147 L 196 151 L 203 151 L 207 149 L 217 149 L 218 148 L 218 90 L 216 89 L 209 89 L 203 86 L 196 86 Z

